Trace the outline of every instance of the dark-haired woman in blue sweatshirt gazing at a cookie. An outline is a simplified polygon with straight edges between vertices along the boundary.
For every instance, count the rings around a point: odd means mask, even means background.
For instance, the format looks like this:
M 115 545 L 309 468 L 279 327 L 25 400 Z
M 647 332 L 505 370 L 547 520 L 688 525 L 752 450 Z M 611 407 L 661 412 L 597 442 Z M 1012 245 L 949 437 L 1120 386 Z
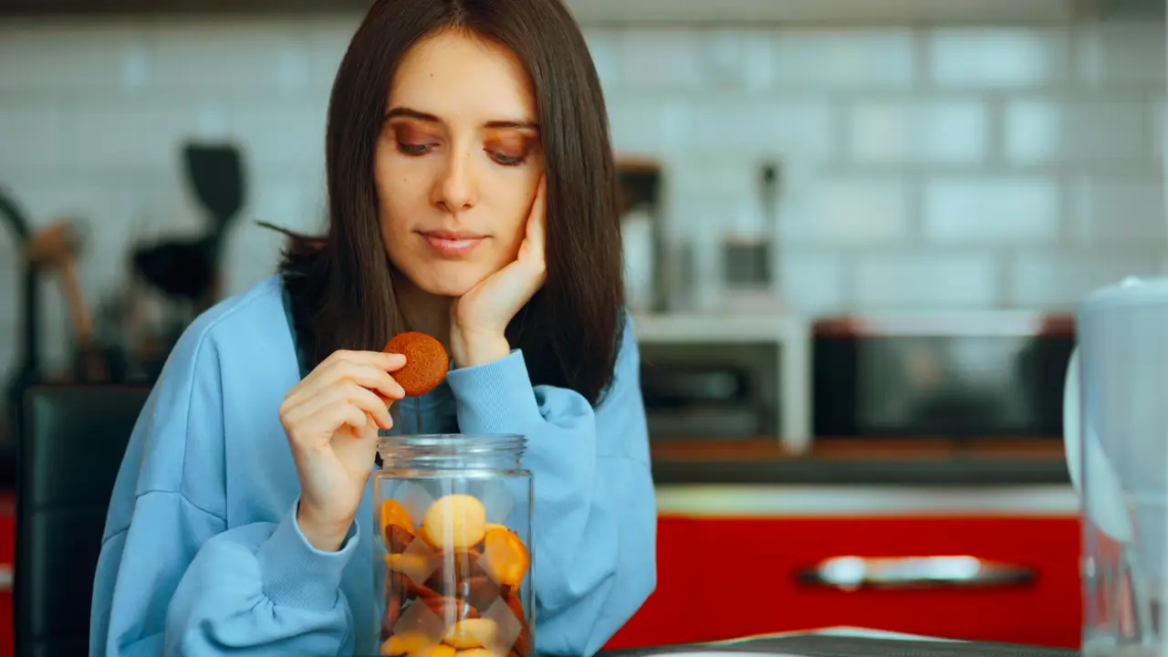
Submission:
M 420 404 L 425 431 L 527 436 L 536 650 L 595 652 L 654 587 L 655 509 L 577 26 L 557 0 L 381 0 L 338 71 L 326 147 L 327 235 L 294 237 L 280 276 L 200 317 L 139 419 L 91 653 L 375 653 L 385 399 L 404 419 Z M 453 360 L 422 399 L 378 353 L 406 328 Z

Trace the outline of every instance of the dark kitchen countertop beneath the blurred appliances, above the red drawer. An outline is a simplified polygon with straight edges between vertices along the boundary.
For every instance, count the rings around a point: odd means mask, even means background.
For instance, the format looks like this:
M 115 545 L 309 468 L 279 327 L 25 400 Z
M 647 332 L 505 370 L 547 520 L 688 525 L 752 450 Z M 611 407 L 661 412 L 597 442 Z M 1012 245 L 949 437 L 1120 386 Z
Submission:
M 778 440 L 668 440 L 652 449 L 658 484 L 1070 484 L 1063 445 L 1049 440 L 818 441 L 807 454 Z

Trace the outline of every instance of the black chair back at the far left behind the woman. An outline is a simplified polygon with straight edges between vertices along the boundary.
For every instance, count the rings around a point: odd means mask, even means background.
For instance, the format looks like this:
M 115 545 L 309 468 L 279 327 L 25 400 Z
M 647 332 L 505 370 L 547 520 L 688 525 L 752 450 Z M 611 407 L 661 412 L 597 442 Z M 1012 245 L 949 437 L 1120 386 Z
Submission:
M 126 386 L 28 390 L 18 443 L 16 655 L 88 652 L 106 507 L 148 394 Z

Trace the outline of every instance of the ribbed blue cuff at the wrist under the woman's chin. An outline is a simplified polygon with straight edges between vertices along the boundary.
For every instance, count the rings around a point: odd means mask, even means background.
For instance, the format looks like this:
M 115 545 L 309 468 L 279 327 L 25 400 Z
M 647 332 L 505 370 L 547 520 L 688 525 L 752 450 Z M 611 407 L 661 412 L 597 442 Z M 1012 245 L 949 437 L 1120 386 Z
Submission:
M 453 369 L 446 382 L 464 434 L 523 433 L 530 422 L 542 419 L 520 350 L 492 362 Z

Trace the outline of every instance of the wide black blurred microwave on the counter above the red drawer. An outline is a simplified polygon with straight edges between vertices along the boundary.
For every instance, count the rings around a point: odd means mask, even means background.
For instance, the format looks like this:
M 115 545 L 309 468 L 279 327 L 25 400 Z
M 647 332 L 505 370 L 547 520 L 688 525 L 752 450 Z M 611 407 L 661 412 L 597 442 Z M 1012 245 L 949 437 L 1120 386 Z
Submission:
M 821 319 L 813 435 L 1057 441 L 1073 325 L 1009 311 Z

